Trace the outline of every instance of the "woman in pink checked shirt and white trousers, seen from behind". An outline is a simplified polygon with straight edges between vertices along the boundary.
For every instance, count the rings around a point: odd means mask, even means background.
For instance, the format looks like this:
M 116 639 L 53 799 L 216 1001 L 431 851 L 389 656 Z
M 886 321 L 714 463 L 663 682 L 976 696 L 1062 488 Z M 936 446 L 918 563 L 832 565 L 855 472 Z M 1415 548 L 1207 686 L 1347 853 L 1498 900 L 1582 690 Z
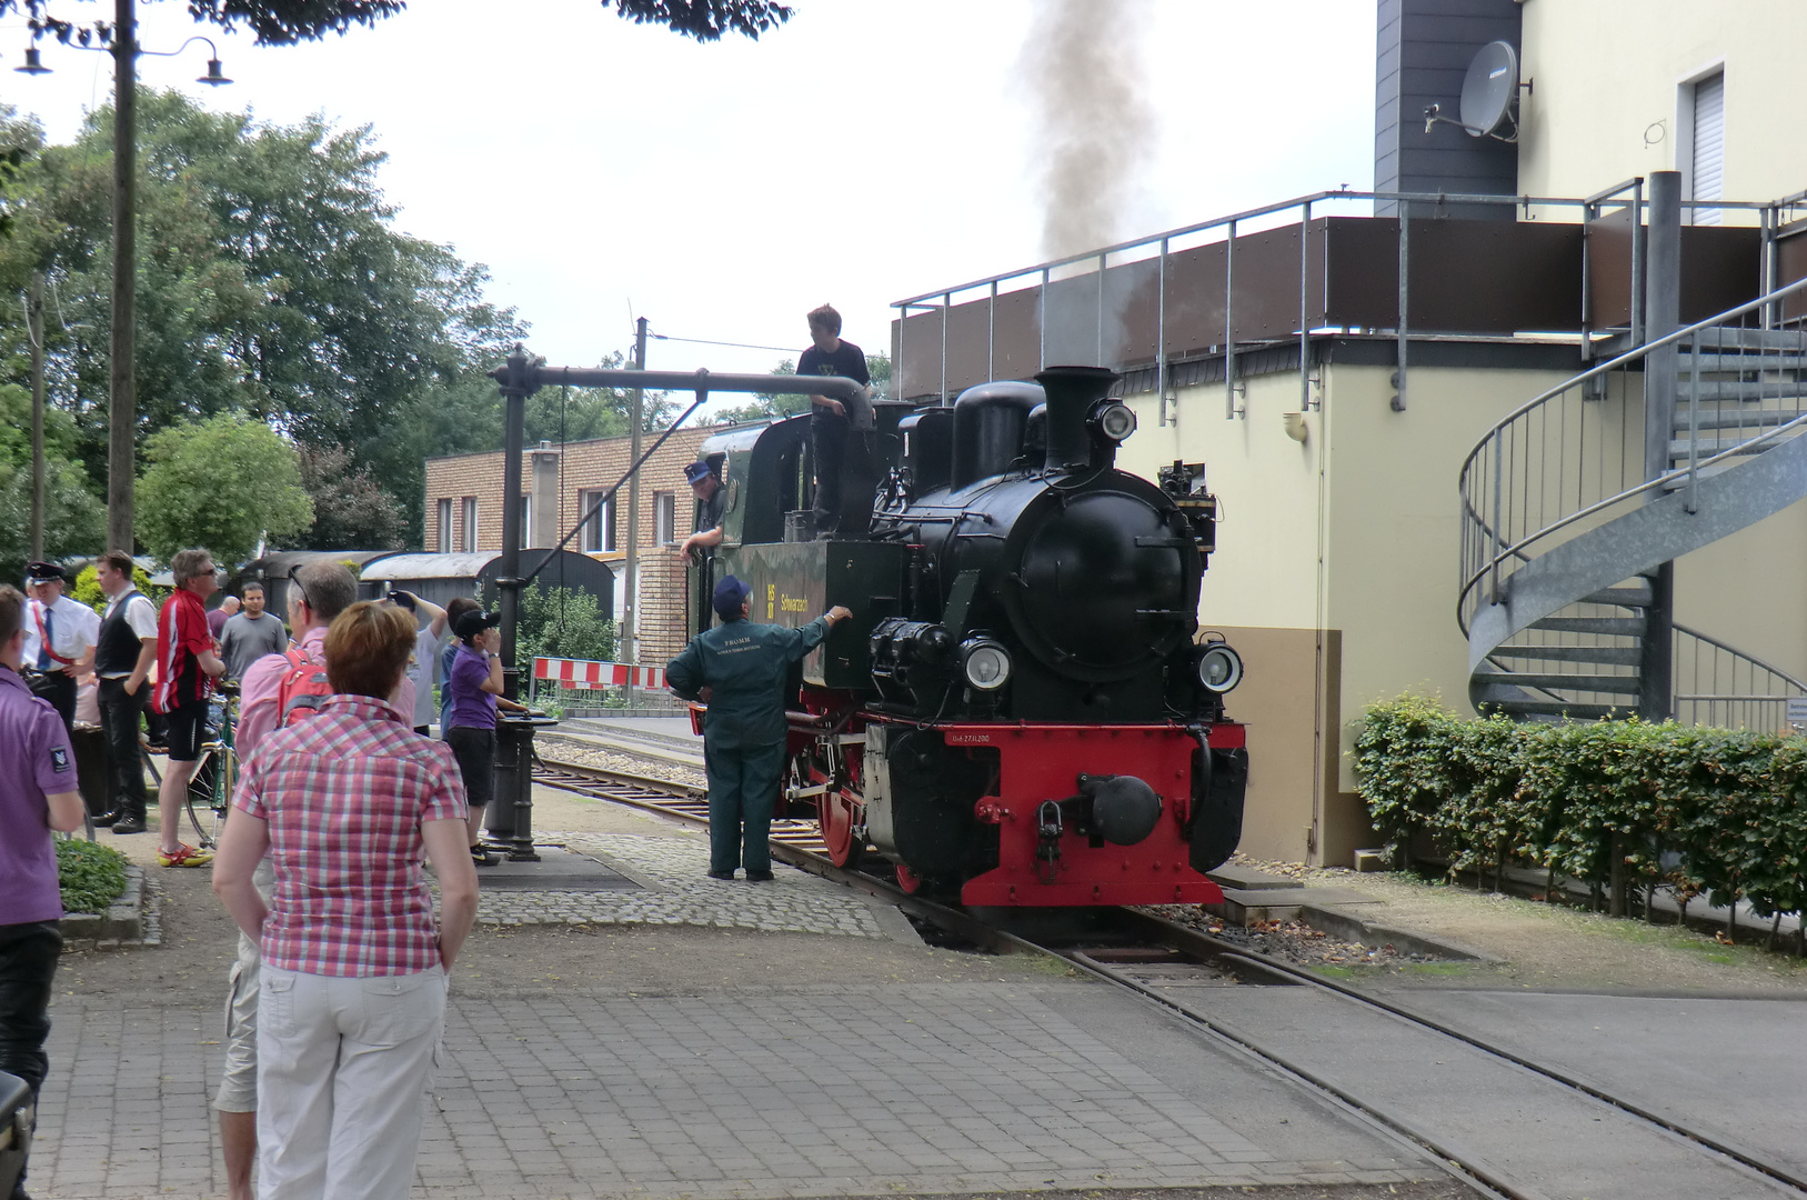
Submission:
M 332 696 L 246 761 L 213 891 L 264 951 L 258 1195 L 408 1195 L 421 1092 L 445 1030 L 446 972 L 477 914 L 452 748 L 383 699 L 414 620 L 354 604 L 325 638 Z M 251 871 L 269 855 L 266 909 Z M 439 878 L 439 922 L 421 855 Z

